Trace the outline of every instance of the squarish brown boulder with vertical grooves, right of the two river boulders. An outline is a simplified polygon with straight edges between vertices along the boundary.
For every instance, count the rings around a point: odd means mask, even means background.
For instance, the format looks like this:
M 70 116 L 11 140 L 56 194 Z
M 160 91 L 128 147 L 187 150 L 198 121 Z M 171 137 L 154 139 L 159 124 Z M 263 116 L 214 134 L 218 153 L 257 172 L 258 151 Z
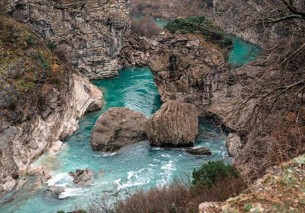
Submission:
M 167 101 L 146 122 L 152 146 L 193 146 L 198 134 L 197 109 L 190 103 Z

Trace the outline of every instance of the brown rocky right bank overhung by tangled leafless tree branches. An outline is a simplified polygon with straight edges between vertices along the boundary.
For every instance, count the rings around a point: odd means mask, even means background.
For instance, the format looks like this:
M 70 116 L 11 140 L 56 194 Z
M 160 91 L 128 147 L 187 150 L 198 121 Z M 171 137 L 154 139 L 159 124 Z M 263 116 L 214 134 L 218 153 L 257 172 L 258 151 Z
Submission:
M 230 74 L 228 97 L 214 104 L 244 138 L 233 163 L 257 177 L 305 152 L 305 2 L 216 1 L 212 15 L 263 47 L 261 60 Z

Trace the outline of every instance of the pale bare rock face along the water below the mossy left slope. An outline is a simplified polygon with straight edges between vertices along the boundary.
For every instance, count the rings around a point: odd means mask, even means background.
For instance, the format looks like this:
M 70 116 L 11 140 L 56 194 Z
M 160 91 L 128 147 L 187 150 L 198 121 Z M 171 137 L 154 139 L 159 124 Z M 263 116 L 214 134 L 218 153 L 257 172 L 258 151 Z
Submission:
M 22 109 L 33 110 L 27 120 L 11 122 L 5 119 L 6 110 L 2 111 L 0 194 L 11 190 L 17 183 L 19 173 L 46 152 L 53 142 L 75 132 L 78 129 L 76 118 L 88 111 L 100 109 L 103 96 L 88 80 L 74 74 L 68 78 L 67 83 L 66 90 L 52 88 L 40 109 L 35 105 Z M 22 99 L 16 104 L 21 102 Z

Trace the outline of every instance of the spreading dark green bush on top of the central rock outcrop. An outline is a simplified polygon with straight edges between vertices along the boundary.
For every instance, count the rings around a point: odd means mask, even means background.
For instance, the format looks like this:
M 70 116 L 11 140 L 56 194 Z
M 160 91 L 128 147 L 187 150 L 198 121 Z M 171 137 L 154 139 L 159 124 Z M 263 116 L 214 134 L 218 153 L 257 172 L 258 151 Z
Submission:
M 180 31 L 181 33 L 193 33 L 200 31 L 202 35 L 215 44 L 220 44 L 223 48 L 232 47 L 232 39 L 225 38 L 224 31 L 213 21 L 204 16 L 188 17 L 185 19 L 173 19 L 163 27 L 172 33 Z

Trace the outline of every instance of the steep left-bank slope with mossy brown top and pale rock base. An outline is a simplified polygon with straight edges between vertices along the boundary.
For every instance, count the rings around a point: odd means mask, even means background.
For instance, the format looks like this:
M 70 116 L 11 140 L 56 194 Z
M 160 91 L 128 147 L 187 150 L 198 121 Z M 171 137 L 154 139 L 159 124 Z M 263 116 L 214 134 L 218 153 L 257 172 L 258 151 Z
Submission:
M 19 22 L 0 17 L 0 194 L 16 184 L 102 94 Z

